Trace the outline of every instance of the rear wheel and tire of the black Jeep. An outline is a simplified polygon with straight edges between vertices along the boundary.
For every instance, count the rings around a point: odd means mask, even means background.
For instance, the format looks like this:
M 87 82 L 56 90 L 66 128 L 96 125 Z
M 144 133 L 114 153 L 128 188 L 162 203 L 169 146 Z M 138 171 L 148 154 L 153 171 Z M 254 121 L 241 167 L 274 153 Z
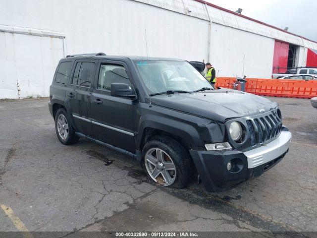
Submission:
M 55 131 L 57 138 L 64 145 L 74 144 L 79 140 L 79 136 L 75 134 L 75 129 L 69 118 L 69 115 L 63 108 L 58 109 L 56 112 Z

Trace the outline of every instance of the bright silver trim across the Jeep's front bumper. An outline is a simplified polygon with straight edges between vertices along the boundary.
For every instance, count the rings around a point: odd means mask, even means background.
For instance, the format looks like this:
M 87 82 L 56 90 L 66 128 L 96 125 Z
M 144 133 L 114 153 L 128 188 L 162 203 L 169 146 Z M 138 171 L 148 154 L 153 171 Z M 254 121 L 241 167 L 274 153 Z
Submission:
M 270 143 L 244 152 L 248 158 L 248 168 L 255 168 L 283 155 L 288 150 L 291 139 L 292 133 L 283 130 L 280 135 Z

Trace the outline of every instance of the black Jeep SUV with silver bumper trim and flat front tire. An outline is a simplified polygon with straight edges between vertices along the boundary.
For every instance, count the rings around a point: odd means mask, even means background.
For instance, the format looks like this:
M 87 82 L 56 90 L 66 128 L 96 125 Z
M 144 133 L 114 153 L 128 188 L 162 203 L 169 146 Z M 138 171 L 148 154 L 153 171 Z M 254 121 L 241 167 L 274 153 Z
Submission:
M 221 191 L 276 165 L 291 140 L 277 104 L 215 89 L 193 65 L 67 56 L 50 88 L 58 139 L 72 144 L 85 137 L 130 155 L 165 186 L 185 187 L 195 172 L 208 191 Z

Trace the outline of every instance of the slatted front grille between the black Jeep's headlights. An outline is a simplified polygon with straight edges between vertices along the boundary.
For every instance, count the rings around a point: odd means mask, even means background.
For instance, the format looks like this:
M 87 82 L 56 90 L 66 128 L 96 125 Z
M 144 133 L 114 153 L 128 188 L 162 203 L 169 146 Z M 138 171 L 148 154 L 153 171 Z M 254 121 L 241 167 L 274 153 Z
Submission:
M 275 112 L 267 116 L 249 119 L 247 125 L 252 146 L 275 139 L 282 130 L 282 120 Z

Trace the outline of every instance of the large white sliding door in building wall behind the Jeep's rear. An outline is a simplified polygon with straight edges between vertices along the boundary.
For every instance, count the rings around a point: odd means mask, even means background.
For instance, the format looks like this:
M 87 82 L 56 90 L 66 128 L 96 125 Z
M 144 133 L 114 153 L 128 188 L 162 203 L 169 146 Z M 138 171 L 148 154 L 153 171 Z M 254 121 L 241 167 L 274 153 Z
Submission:
M 0 99 L 48 97 L 63 39 L 0 32 Z

